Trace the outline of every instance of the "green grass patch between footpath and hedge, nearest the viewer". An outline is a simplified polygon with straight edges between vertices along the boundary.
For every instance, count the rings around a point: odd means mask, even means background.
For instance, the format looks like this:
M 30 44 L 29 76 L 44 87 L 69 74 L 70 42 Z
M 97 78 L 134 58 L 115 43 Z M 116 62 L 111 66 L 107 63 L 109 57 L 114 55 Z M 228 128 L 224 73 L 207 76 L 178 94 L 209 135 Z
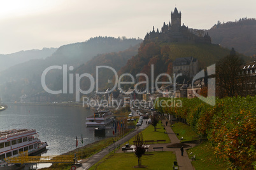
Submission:
M 196 155 L 196 160 L 192 161 L 192 165 L 196 169 L 227 169 L 229 166 L 227 162 L 221 159 L 217 159 L 216 155 L 213 154 L 214 149 L 211 147 L 210 142 L 206 141 L 197 147 L 190 148 L 187 150 L 188 155 L 192 152 L 190 157 Z

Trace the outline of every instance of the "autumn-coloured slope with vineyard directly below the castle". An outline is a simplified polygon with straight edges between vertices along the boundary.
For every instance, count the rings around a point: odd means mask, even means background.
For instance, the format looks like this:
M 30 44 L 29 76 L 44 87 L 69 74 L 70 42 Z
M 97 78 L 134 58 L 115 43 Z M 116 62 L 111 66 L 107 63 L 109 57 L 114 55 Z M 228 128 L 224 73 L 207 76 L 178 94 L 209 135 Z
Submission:
M 176 58 L 193 56 L 199 61 L 199 70 L 201 70 L 216 63 L 220 58 L 229 55 L 229 53 L 229 49 L 222 48 L 216 44 L 150 42 L 148 44 L 141 44 L 138 55 L 132 56 L 127 64 L 120 69 L 118 74 L 129 73 L 135 77 L 138 73 L 145 73 L 149 77 L 149 82 L 151 82 L 151 65 L 154 65 L 154 77 L 162 73 L 173 75 L 173 61 Z M 245 60 L 249 59 L 246 56 L 243 57 Z M 186 77 L 183 77 L 179 81 L 183 82 L 184 78 Z M 145 81 L 145 79 L 140 77 L 139 81 Z

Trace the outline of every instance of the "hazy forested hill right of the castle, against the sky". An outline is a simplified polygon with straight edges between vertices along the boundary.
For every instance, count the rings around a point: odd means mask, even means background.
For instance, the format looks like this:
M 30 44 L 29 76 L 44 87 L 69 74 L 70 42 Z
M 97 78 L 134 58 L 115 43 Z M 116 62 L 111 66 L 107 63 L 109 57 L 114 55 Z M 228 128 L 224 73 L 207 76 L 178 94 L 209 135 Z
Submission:
M 226 48 L 234 47 L 244 55 L 256 55 L 256 20 L 242 18 L 236 22 L 220 23 L 208 30 L 213 44 Z

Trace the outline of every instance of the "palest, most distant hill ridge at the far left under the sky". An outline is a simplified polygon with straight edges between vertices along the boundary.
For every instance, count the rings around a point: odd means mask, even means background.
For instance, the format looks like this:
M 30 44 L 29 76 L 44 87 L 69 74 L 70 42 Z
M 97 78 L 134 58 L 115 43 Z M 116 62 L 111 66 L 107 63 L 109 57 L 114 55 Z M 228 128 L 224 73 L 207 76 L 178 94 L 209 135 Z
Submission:
M 11 53 L 8 55 L 0 54 L 0 72 L 8 69 L 13 65 L 24 63 L 32 59 L 46 58 L 51 56 L 57 48 L 43 48 L 43 49 L 31 49 L 27 51 L 19 51 L 17 53 Z

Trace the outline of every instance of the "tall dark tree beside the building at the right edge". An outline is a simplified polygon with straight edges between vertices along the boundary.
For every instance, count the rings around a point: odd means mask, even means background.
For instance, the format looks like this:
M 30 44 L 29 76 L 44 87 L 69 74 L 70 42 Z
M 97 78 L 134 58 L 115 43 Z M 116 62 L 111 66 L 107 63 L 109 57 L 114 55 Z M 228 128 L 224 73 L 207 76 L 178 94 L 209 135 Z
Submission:
M 217 63 L 217 86 L 222 94 L 221 97 L 239 95 L 243 63 L 243 59 L 236 55 L 234 48 L 231 49 L 230 55 L 220 59 Z

